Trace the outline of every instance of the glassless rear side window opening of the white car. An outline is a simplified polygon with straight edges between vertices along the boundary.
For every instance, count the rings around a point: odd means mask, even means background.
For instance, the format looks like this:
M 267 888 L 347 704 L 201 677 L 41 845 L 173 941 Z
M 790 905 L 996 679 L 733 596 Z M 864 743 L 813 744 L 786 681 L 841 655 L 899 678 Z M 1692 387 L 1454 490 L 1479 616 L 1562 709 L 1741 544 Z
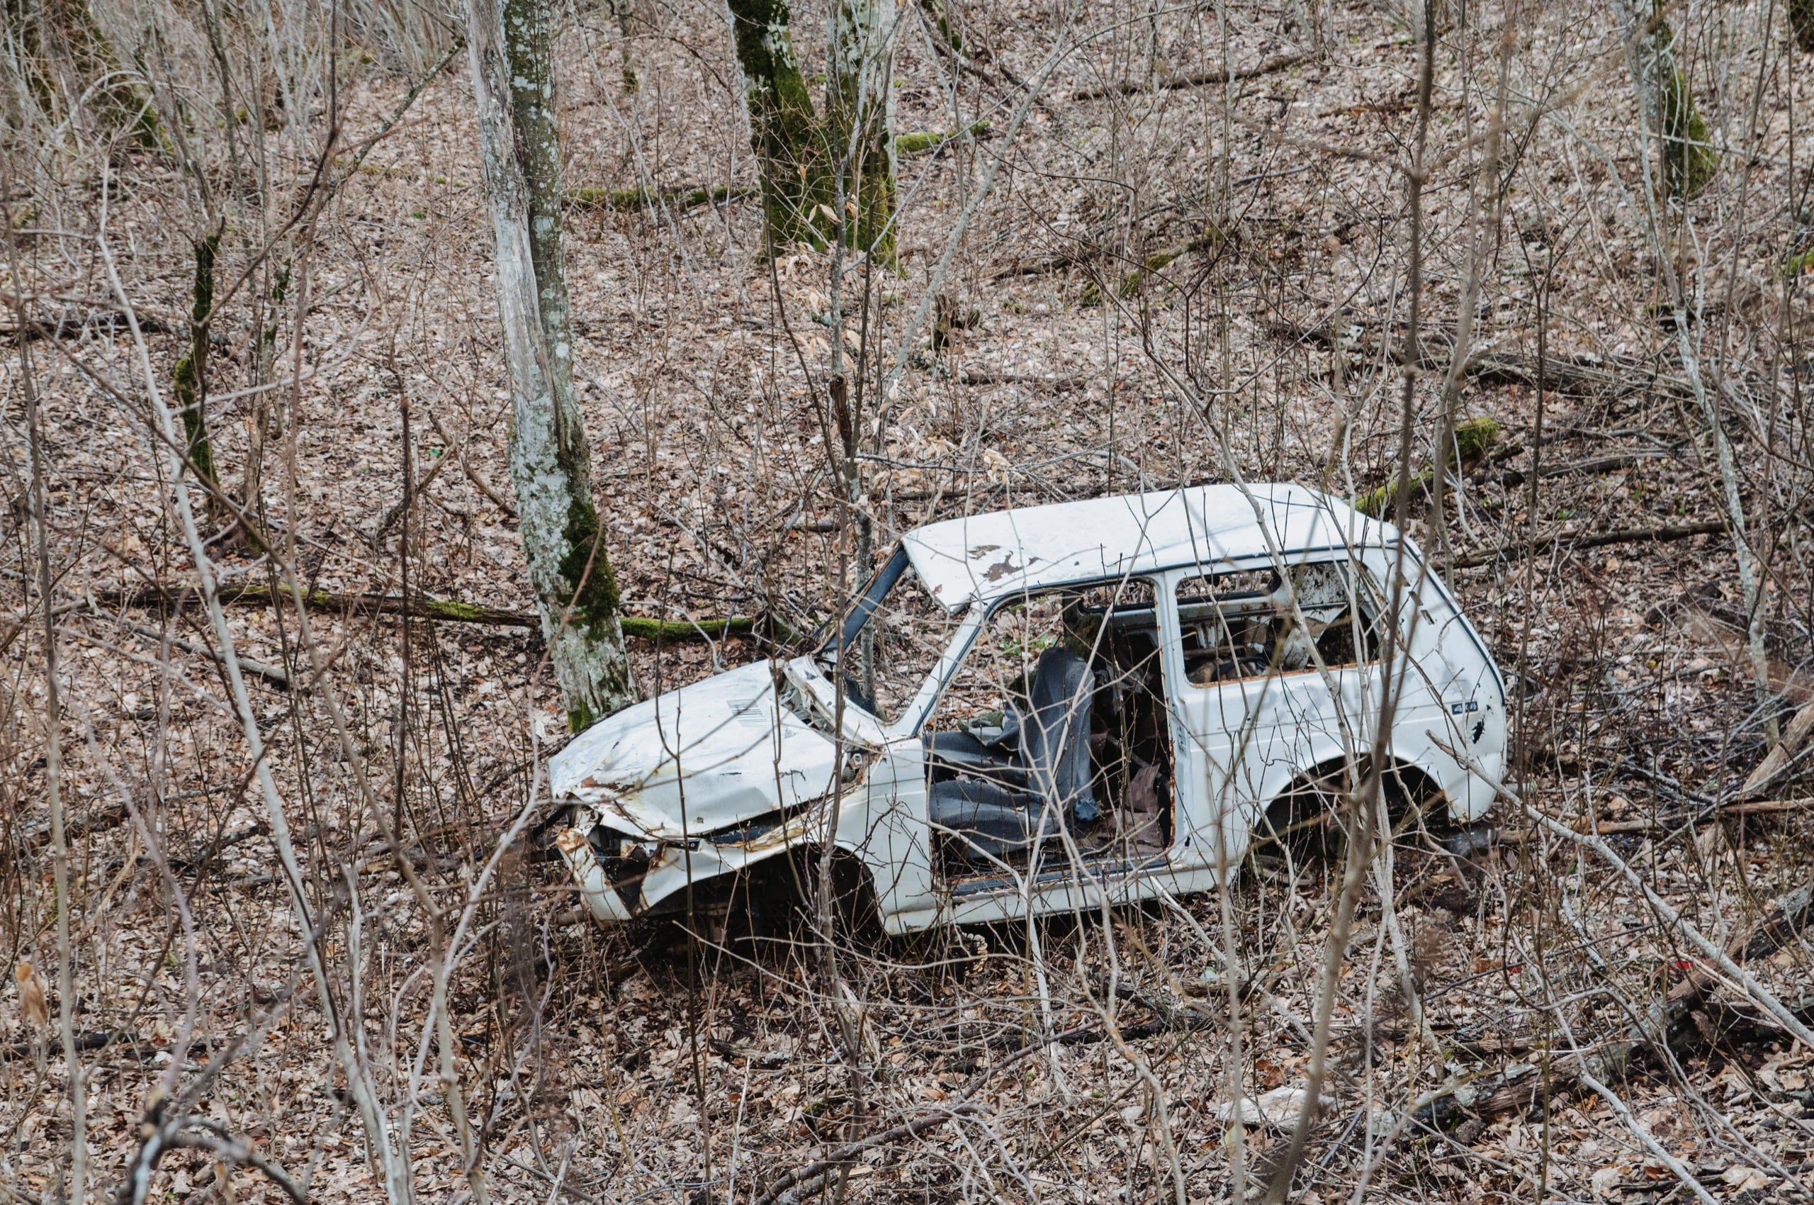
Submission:
M 1292 601 L 1297 601 L 1299 622 Z M 1185 681 L 1215 686 L 1379 659 L 1379 597 L 1344 561 L 1232 570 L 1177 584 Z

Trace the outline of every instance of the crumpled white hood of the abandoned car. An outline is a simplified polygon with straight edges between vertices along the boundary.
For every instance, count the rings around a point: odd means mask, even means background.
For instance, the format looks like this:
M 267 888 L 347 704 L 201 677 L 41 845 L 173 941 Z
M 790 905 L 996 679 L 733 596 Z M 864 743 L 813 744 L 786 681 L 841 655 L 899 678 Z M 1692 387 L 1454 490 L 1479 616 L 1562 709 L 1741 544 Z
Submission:
M 836 784 L 836 744 L 787 710 L 767 662 L 606 717 L 548 762 L 557 802 L 651 838 L 704 837 Z

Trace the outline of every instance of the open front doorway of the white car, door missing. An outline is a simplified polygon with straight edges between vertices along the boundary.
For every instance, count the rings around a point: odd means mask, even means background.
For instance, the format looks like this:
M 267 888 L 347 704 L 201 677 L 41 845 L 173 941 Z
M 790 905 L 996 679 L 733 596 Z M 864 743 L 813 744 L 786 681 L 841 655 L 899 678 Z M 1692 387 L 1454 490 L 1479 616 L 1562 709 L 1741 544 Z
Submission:
M 1170 740 L 1154 588 L 1145 579 L 998 602 L 927 720 L 929 817 L 947 866 L 1163 851 Z

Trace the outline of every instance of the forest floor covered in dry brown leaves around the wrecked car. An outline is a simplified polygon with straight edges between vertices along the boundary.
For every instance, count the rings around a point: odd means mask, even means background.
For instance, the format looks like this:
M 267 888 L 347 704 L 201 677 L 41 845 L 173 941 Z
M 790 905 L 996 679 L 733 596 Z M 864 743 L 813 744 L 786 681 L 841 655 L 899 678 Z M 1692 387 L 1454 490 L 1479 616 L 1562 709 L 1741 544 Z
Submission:
M 1101 4 L 1067 25 L 1056 7 L 989 5 L 970 16 L 960 65 L 911 9 L 898 129 L 989 120 L 994 138 L 902 156 L 898 265 L 842 260 L 842 327 L 833 254 L 762 256 L 753 198 L 575 201 L 577 377 L 628 613 L 760 615 L 771 630 L 804 630 L 862 575 L 825 448 L 833 338 L 869 370 L 854 423 L 878 555 L 932 519 L 1232 470 L 1346 497 L 1388 479 L 1409 299 L 1406 178 L 1393 163 L 1417 145 L 1417 44 L 1390 5 L 1328 9 L 1322 54 L 1308 53 L 1293 5 L 1228 9 L 1228 62 L 1275 69 L 1230 87 L 1226 123 L 1219 85 L 1166 85 L 1219 62 L 1214 11 L 1161 22 Z M 1743 31 L 1761 11 L 1729 5 L 1709 20 Z M 588 9 L 562 34 L 568 185 L 746 189 L 755 176 L 722 9 L 639 13 L 626 25 Z M 1498 368 L 1464 376 L 1457 394 L 1458 416 L 1495 419 L 1500 437 L 1457 474 L 1440 532 L 1426 497 L 1409 526 L 1453 566 L 1449 586 L 1506 670 L 1524 800 L 1575 831 L 1598 824 L 1660 898 L 1727 944 L 1814 871 L 1805 780 L 1780 779 L 1765 797 L 1787 800 L 1776 809 L 1721 811 L 1765 755 L 1765 720 L 1814 700 L 1807 495 L 1770 475 L 1765 452 L 1805 439 L 1792 414 L 1780 430 L 1769 401 L 1799 379 L 1796 345 L 1776 332 L 1810 299 L 1809 276 L 1776 267 L 1798 236 L 1774 165 L 1792 149 L 1790 100 L 1805 111 L 1814 74 L 1794 56 L 1760 65 L 1745 49 L 1702 82 L 1709 113 L 1740 129 L 1747 71 L 1774 80 L 1758 118 L 1765 151 L 1725 167 L 1709 201 L 1725 225 L 1709 218 L 1707 245 L 1669 250 L 1678 270 L 1698 265 L 1696 347 L 1743 365 L 1723 368 L 1727 396 L 1767 399 L 1729 428 L 1774 566 L 1763 624 L 1774 693 L 1761 704 L 1714 443 L 1653 263 L 1620 40 L 1598 15 L 1520 13 L 1504 214 L 1480 258 L 1473 330 L 1477 358 Z M 811 73 L 822 53 L 805 31 L 820 15 L 800 5 L 795 18 Z M 1003 138 L 1021 109 L 1014 82 L 1036 78 L 1059 36 L 1070 53 Z M 1473 160 L 1498 36 L 1497 25 L 1446 27 L 1437 62 L 1420 332 L 1439 361 L 1415 390 L 1413 468 L 1431 459 L 1442 348 L 1473 261 L 1469 216 L 1484 203 Z M 209 423 L 223 481 L 238 479 L 256 416 L 276 425 L 261 506 L 307 584 L 526 613 L 464 62 L 452 60 L 321 211 L 288 281 L 307 298 L 303 343 L 287 325 L 261 330 L 250 287 L 223 307 Z M 346 142 L 368 138 L 405 87 L 383 64 L 356 71 Z M 949 301 L 898 348 L 956 214 L 998 156 L 936 283 Z M 34 218 L 15 238 L 16 287 L 74 332 L 29 350 L 56 577 L 76 1027 L 114 1034 L 83 1053 L 93 1190 L 122 1181 L 154 1085 L 203 1074 L 256 1031 L 194 1111 L 307 1176 L 316 1200 L 381 1200 L 323 1038 L 216 637 L 192 597 L 138 348 L 109 318 L 120 307 L 102 241 L 58 234 L 105 236 L 167 390 L 187 350 L 189 189 L 143 151 L 34 187 Z M 1776 214 L 1752 218 L 1761 234 L 1745 225 L 1747 189 Z M 229 223 L 223 279 L 250 270 L 261 238 L 250 220 Z M 268 379 L 252 379 L 261 338 L 279 350 Z M 1558 367 L 1544 394 L 1540 338 Z M 896 390 L 878 397 L 902 354 L 912 359 Z M 294 367 L 294 390 L 249 392 Z M 45 969 L 56 964 L 45 662 L 27 586 L 38 570 L 16 350 L 5 374 L 15 501 L 0 646 L 13 706 L 0 720 L 0 838 L 15 869 L 0 933 L 15 964 L 38 971 L 7 989 L 0 1020 L 11 1043 L 0 1045 L 11 1051 L 0 1054 L 0 1189 L 51 1201 L 71 1116 Z M 1653 537 L 1587 546 L 1609 532 Z M 212 555 L 229 586 L 278 584 L 274 561 L 243 541 Z M 181 602 L 143 606 L 152 588 Z M 566 740 L 533 630 L 403 622 L 357 602 L 312 612 L 307 635 L 287 608 L 245 602 L 227 617 L 239 657 L 312 682 L 254 677 L 250 702 L 308 900 L 332 918 L 317 947 L 339 976 L 337 1009 L 423 1200 L 466 1200 L 472 1185 L 424 1029 L 434 926 L 417 882 L 448 916 L 477 900 L 450 1009 L 479 1165 L 499 1198 L 751 1200 L 840 1143 L 943 1111 L 941 1123 L 863 1151 L 834 1192 L 1215 1201 L 1263 1185 L 1290 1140 L 1279 1118 L 1232 1125 L 1230 1085 L 1261 1098 L 1306 1082 L 1339 866 L 1293 878 L 1253 862 L 1226 893 L 1108 924 L 849 951 L 840 967 L 853 998 L 827 1002 L 809 949 L 755 955 L 593 927 L 541 838 L 488 869 L 513 817 L 526 806 L 546 817 L 542 762 Z M 755 637 L 631 641 L 646 695 L 771 651 Z M 330 695 L 348 740 L 336 737 Z M 392 817 L 408 880 L 383 838 Z M 1310 1132 L 1297 1200 L 1640 1205 L 1687 1200 L 1696 1189 L 1683 1172 L 1718 1200 L 1807 1198 L 1814 1051 L 1763 1014 L 1756 993 L 1709 980 L 1703 955 L 1598 855 L 1506 806 L 1491 820 L 1500 840 L 1471 857 L 1406 838 L 1362 893 L 1333 1005 L 1331 1103 Z M 1210 944 L 1224 933 L 1246 987 L 1239 1024 Z M 1807 967 L 1798 940 L 1749 964 L 1803 1016 Z M 51 989 L 49 1027 L 31 1014 L 34 982 Z M 1671 1042 L 1633 1060 L 1607 1094 L 1575 1080 L 1580 1051 L 1624 1040 L 1683 982 L 1696 994 Z M 862 1014 L 856 1067 L 834 1024 L 847 1004 Z M 1038 1045 L 1050 1034 L 1065 1038 Z M 1458 1123 L 1424 1123 L 1437 1112 L 1419 1109 L 1455 1080 L 1509 1096 Z M 158 1192 L 194 1205 L 276 1200 L 256 1172 L 229 1185 L 196 1152 L 163 1161 Z

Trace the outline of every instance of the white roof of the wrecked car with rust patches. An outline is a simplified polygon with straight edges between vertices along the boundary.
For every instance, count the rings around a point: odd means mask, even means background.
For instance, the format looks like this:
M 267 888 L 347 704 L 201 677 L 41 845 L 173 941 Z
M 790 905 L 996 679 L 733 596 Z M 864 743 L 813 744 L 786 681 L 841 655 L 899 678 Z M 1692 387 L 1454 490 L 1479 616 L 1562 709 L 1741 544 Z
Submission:
M 1397 537 L 1348 503 L 1301 485 L 1199 485 L 947 519 L 902 537 L 947 610 L 1067 583 L 1214 566 Z

